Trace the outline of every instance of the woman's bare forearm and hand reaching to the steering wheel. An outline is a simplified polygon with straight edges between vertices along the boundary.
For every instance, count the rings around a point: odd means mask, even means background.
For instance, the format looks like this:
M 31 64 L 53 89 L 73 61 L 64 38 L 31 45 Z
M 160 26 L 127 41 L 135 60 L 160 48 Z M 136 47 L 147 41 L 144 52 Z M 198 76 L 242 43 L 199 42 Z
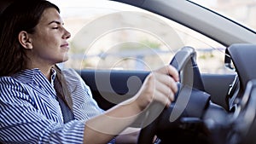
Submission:
M 150 73 L 137 95 L 86 122 L 84 143 L 107 143 L 129 127 L 152 101 L 169 107 L 177 91 L 176 81 L 178 74 L 172 66 Z

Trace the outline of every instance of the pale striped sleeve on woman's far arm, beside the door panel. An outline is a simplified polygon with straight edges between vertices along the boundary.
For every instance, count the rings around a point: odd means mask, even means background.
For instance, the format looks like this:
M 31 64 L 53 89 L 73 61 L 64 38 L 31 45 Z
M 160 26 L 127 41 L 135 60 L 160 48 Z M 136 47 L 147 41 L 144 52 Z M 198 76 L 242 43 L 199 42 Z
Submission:
M 67 81 L 67 89 L 73 99 L 74 117 L 78 120 L 88 120 L 104 112 L 92 98 L 91 91 L 78 72 L 73 69 L 65 69 L 62 74 Z

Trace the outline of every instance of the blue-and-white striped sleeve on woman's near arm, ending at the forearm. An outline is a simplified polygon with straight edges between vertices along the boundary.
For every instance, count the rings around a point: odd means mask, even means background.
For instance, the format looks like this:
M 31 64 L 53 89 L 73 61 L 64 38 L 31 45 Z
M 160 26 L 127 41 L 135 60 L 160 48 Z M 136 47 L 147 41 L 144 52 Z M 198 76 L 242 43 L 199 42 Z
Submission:
M 84 122 L 61 124 L 46 118 L 27 90 L 13 78 L 0 78 L 0 92 L 0 142 L 83 142 Z

